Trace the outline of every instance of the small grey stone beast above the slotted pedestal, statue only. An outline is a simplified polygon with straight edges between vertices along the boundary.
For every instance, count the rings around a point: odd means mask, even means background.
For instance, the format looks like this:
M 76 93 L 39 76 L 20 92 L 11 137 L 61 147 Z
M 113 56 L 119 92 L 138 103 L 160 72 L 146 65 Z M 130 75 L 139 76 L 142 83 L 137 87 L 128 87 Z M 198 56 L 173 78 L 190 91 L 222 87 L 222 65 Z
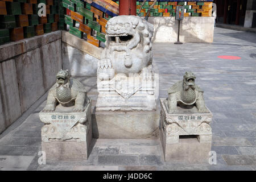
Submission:
M 195 84 L 195 79 L 192 72 L 185 72 L 183 80 L 168 89 L 168 113 L 177 113 L 177 105 L 196 106 L 199 113 L 208 113 L 203 91 Z

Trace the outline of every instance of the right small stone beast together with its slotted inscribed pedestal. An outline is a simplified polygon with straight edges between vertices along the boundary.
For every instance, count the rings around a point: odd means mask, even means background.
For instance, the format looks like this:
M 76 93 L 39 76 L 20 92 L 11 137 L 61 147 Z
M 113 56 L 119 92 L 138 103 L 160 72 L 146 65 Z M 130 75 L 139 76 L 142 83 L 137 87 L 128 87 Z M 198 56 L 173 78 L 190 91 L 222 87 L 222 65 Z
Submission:
M 168 93 L 168 99 L 160 98 L 164 159 L 207 163 L 212 146 L 209 123 L 213 115 L 204 105 L 203 91 L 195 85 L 193 73 L 186 72 L 184 80 L 174 84 Z

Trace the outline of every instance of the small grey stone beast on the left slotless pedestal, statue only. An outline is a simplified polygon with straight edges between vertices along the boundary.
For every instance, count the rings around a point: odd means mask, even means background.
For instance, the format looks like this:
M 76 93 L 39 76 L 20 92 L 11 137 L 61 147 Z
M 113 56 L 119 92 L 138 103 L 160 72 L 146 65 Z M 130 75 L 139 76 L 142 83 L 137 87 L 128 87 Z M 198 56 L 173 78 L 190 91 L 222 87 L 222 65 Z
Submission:
M 54 111 L 56 104 L 73 106 L 73 111 L 84 111 L 86 89 L 75 78 L 71 78 L 68 70 L 60 70 L 56 75 L 57 81 L 49 90 L 46 107 L 43 112 Z

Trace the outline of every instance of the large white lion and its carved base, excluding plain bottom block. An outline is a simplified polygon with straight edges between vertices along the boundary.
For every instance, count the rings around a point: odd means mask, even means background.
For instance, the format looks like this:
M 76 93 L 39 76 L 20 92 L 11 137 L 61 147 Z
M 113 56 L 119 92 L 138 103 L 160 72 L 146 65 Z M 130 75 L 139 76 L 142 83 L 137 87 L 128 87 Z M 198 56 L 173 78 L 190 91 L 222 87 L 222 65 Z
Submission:
M 138 16 L 115 16 L 108 21 L 97 68 L 97 111 L 155 110 L 158 78 L 152 71 L 153 31 L 152 24 Z

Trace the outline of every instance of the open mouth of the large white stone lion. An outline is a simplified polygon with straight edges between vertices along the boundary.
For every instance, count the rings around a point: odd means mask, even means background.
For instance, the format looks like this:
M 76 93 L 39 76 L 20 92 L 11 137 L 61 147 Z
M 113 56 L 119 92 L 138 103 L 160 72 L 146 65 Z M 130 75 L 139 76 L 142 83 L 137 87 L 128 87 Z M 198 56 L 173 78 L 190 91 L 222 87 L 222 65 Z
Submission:
M 133 39 L 133 35 L 129 34 L 109 34 L 110 44 L 118 45 L 118 46 L 127 46 L 131 39 Z

